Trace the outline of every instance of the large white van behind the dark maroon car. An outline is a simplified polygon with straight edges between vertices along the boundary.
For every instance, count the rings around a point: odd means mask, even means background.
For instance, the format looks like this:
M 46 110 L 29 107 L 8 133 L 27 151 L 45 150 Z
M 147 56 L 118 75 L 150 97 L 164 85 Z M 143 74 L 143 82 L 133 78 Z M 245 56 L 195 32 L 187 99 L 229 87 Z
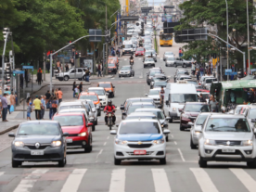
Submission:
M 198 102 L 198 94 L 195 84 L 186 81 L 167 83 L 164 95 L 163 111 L 169 122 L 180 119 L 181 109 L 186 102 Z

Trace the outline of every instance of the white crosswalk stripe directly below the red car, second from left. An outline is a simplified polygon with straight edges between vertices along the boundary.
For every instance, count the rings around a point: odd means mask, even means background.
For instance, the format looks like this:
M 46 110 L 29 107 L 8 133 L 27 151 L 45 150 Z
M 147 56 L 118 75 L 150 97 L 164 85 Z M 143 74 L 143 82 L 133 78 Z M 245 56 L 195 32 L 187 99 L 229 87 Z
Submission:
M 80 183 L 83 179 L 84 173 L 86 173 L 87 169 L 75 169 L 72 173 L 70 173 L 67 181 L 61 189 L 61 192 L 70 192 L 77 191 Z

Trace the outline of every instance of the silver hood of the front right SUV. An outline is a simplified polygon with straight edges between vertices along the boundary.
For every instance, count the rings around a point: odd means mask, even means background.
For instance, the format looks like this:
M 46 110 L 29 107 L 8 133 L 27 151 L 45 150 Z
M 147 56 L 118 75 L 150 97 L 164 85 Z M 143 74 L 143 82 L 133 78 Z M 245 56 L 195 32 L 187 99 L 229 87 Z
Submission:
M 251 132 L 204 132 L 204 137 L 213 140 L 250 140 L 252 134 Z

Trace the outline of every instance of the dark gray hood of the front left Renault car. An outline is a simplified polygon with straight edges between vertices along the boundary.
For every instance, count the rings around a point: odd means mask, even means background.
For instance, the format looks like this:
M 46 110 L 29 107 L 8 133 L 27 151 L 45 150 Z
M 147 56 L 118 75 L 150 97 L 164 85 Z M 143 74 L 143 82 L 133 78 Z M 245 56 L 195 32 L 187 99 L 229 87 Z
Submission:
M 22 141 L 25 144 L 51 144 L 59 139 L 60 135 L 22 135 L 15 137 L 16 141 Z

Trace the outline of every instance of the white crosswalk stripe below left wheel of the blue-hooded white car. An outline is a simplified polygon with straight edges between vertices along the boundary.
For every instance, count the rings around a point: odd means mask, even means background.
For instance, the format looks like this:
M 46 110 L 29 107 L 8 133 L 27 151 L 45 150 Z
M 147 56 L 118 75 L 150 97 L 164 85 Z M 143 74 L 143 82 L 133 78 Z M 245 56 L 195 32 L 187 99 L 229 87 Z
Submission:
M 109 192 L 124 192 L 124 188 L 125 169 L 113 170 L 111 173 Z

